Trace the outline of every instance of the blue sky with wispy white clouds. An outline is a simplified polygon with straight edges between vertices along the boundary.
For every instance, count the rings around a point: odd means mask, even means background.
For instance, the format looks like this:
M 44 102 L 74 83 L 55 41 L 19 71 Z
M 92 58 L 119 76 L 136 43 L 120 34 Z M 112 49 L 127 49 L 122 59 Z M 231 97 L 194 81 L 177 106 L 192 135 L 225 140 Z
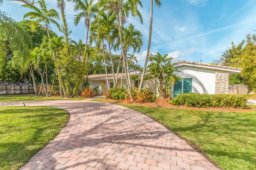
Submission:
M 154 0 L 153 0 L 154 1 Z M 48 9 L 56 9 L 56 0 L 45 0 Z M 143 35 L 143 47 L 134 55 L 138 64 L 144 65 L 148 47 L 150 0 L 141 0 L 139 8 L 143 25 L 138 17 L 129 17 L 126 25 L 133 24 Z M 23 20 L 29 9 L 21 7 L 23 3 L 4 0 L 0 10 L 6 12 L 17 22 Z M 162 55 L 168 53 L 172 62 L 194 61 L 211 63 L 221 57 L 231 46 L 238 45 L 247 34 L 256 34 L 256 0 L 161 0 L 162 6 L 153 6 L 153 28 L 150 52 Z M 66 16 L 70 37 L 76 42 L 85 42 L 84 22 L 74 26 L 74 11 L 71 2 L 66 2 Z M 61 24 L 61 21 L 58 21 Z M 52 30 L 62 33 L 52 24 Z M 133 53 L 133 51 L 129 51 Z M 120 52 L 117 52 L 120 54 Z

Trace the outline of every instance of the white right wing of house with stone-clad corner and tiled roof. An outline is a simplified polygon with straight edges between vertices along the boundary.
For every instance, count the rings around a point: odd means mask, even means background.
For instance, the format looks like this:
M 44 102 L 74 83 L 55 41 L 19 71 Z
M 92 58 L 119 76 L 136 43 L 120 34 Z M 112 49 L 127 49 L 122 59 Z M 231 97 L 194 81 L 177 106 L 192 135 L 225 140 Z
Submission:
M 182 93 L 228 94 L 229 75 L 240 73 L 242 68 L 206 63 L 180 61 L 174 63 L 178 80 L 172 91 L 174 97 Z

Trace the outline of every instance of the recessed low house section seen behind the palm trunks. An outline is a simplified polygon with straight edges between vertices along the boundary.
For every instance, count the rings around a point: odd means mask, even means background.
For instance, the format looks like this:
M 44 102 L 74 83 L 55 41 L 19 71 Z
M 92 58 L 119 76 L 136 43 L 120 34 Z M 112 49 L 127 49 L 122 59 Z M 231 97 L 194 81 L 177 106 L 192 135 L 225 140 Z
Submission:
M 132 80 L 131 79 L 131 86 L 134 87 L 139 87 L 140 85 L 140 75 L 141 73 L 130 73 L 130 77 L 135 76 L 136 79 Z M 117 74 L 114 74 L 115 78 L 117 76 Z M 121 83 L 121 79 L 122 79 L 122 73 L 118 73 L 118 84 Z M 100 88 L 100 91 L 106 91 L 107 90 L 107 79 L 106 79 L 106 74 L 96 74 L 96 75 L 88 75 L 88 82 L 90 84 L 91 88 L 94 88 L 96 86 L 98 86 Z M 113 87 L 113 74 L 108 74 L 108 85 L 109 87 Z M 127 87 L 127 82 L 126 82 L 126 74 L 124 73 L 123 76 L 123 87 L 126 88 Z M 156 91 L 156 87 L 155 84 L 152 80 L 144 80 L 143 81 L 143 89 L 145 88 L 149 88 L 153 91 Z

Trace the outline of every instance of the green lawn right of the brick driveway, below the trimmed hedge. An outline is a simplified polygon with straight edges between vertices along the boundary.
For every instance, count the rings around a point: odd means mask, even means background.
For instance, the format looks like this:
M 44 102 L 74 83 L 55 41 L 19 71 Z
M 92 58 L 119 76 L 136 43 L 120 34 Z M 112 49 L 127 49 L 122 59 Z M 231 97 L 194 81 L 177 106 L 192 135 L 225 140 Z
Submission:
M 96 101 L 106 102 L 104 99 Z M 188 144 L 196 144 L 222 169 L 256 169 L 256 111 L 198 111 L 119 105 L 148 115 L 185 138 Z

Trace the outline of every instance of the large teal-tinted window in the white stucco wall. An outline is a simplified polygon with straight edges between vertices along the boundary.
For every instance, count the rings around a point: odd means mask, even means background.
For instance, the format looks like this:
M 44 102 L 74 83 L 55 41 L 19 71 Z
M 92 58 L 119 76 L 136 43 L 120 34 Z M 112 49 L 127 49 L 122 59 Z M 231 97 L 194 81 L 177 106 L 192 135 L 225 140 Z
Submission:
M 192 78 L 177 80 L 177 84 L 173 87 L 173 97 L 183 93 L 192 92 Z

